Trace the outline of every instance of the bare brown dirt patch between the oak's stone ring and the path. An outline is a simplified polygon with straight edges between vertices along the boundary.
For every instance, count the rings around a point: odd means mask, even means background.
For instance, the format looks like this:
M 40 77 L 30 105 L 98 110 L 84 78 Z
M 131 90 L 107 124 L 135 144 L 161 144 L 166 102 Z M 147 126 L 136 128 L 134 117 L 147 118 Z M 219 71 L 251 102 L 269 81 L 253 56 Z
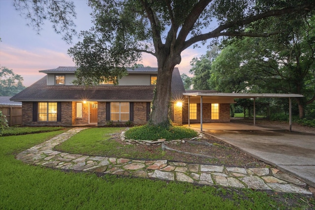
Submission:
M 240 166 L 240 167 L 266 167 L 268 164 L 253 158 L 251 155 L 238 150 L 237 148 L 222 142 L 221 140 L 205 136 L 198 140 L 212 144 L 211 146 L 202 144 L 185 143 L 165 144 L 168 148 L 180 150 L 190 153 L 197 153 L 211 156 L 212 158 L 199 157 L 196 155 L 185 154 L 171 150 L 162 150 L 161 144 L 157 145 L 141 145 L 134 144 L 132 147 L 122 141 L 119 135 L 115 135 L 112 141 L 120 144 L 120 148 L 124 148 L 124 152 L 117 154 L 112 153 L 116 157 L 125 157 L 131 159 L 167 159 L 174 162 L 199 163 L 199 164 L 215 164 L 225 166 Z

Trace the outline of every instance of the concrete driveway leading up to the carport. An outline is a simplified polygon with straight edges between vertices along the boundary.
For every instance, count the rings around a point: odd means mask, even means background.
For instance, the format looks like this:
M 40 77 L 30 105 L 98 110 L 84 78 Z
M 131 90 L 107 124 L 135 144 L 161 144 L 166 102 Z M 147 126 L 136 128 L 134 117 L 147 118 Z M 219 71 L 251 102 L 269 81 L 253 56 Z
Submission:
M 315 134 L 232 122 L 204 123 L 203 130 L 315 187 Z

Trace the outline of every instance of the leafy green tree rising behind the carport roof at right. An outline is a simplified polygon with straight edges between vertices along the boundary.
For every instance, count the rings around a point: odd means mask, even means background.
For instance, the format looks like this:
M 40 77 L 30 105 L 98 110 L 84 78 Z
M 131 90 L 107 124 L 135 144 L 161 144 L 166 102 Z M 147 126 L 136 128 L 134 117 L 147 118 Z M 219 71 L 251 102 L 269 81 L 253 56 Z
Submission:
M 303 118 L 304 106 L 315 100 L 315 17 L 289 31 L 232 42 L 214 61 L 210 83 L 227 92 L 303 94 L 295 99 Z

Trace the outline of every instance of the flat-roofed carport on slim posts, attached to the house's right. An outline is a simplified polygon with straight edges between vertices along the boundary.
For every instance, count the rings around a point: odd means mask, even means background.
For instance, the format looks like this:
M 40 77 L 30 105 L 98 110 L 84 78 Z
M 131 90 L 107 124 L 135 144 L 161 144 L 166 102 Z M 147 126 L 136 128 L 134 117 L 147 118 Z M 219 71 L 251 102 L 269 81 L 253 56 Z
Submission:
M 200 100 L 200 130 L 202 131 L 202 104 L 203 99 L 213 100 L 226 100 L 231 101 L 236 98 L 252 98 L 253 99 L 253 125 L 256 125 L 255 119 L 255 100 L 256 98 L 288 98 L 289 101 L 289 131 L 292 131 L 292 109 L 291 98 L 304 97 L 301 94 L 282 94 L 282 93 L 222 93 L 222 92 L 186 92 L 183 93 L 188 98 L 188 116 L 189 116 L 189 103 L 191 100 Z M 190 126 L 190 120 L 188 118 L 188 126 Z

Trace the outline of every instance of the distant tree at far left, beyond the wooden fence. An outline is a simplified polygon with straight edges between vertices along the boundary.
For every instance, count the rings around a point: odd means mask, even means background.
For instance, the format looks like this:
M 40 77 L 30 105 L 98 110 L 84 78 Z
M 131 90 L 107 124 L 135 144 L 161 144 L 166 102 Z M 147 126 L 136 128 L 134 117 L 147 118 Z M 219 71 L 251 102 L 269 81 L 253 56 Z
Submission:
M 13 96 L 26 87 L 22 84 L 23 77 L 14 74 L 12 69 L 0 67 L 0 96 Z

